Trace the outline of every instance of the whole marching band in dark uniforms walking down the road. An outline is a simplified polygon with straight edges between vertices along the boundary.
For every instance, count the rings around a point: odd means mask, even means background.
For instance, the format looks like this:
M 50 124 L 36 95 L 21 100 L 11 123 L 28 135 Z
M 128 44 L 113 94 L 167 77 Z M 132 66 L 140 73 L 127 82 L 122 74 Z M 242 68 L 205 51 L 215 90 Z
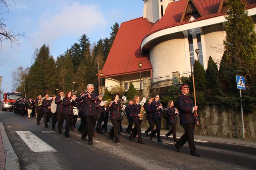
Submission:
M 197 117 L 194 117 L 193 113 L 197 109 L 197 106 L 194 107 L 193 102 L 186 95 L 188 94 L 187 85 L 182 86 L 180 90 L 182 94 L 178 96 L 178 109 L 174 107 L 174 101 L 170 100 L 167 106 L 167 116 L 168 124 L 172 127 L 169 133 L 166 134 L 166 139 L 169 135 L 173 135 L 173 140 L 176 142 L 176 116 L 180 116 L 180 125 L 183 125 L 185 133 L 180 138 L 180 140 L 175 144 L 175 147 L 178 152 L 182 152 L 180 147 L 188 141 L 191 154 L 194 156 L 200 156 L 196 152 L 196 147 L 194 146 L 194 125 L 198 123 Z M 162 143 L 163 141 L 160 138 L 161 130 L 161 120 L 163 114 L 163 106 L 159 102 L 159 95 L 155 95 L 154 98 L 148 100 L 148 104 L 140 101 L 140 96 L 134 96 L 133 100 L 129 101 L 129 104 L 122 103 L 122 100 L 119 100 L 117 94 L 112 95 L 111 102 L 106 104 L 102 101 L 104 94 L 96 96 L 93 93 L 94 85 L 88 84 L 87 90 L 82 92 L 79 97 L 72 95 L 71 91 L 64 92 L 60 91 L 59 96 L 56 97 L 52 95 L 50 98 L 48 94 L 42 98 L 41 95 L 38 95 L 38 98 L 32 100 L 24 100 L 19 98 L 14 103 L 14 113 L 24 116 L 25 112 L 28 114 L 28 118 L 36 115 L 37 124 L 40 124 L 41 118 L 44 116 L 44 125 L 45 128 L 48 128 L 48 122 L 52 122 L 52 130 L 55 130 L 56 122 L 58 121 L 58 132 L 62 133 L 62 125 L 64 120 L 66 121 L 64 135 L 67 138 L 70 138 L 69 131 L 70 128 L 74 131 L 78 115 L 80 116 L 80 127 L 78 131 L 82 133 L 81 139 L 83 141 L 88 141 L 89 145 L 93 144 L 94 137 L 94 127 L 96 126 L 96 132 L 103 134 L 102 131 L 107 131 L 108 119 L 112 123 L 112 129 L 109 132 L 109 140 L 112 141 L 115 139 L 116 144 L 120 144 L 119 139 L 119 130 L 120 123 L 124 114 L 127 115 L 129 125 L 126 129 L 127 133 L 130 133 L 130 141 L 133 141 L 135 137 L 138 137 L 138 143 L 143 144 L 141 136 L 141 123 L 146 113 L 146 119 L 150 127 L 145 131 L 145 134 L 150 137 L 155 137 L 157 134 L 157 141 Z M 126 101 L 126 99 L 125 99 Z M 124 101 L 123 101 L 124 102 Z M 127 101 L 126 101 L 127 102 Z M 180 113 L 178 112 L 180 110 Z M 33 113 L 34 112 L 34 113 Z M 97 123 L 96 123 L 97 122 Z M 104 125 L 101 125 L 104 122 Z M 134 128 L 132 125 L 134 123 Z M 154 127 L 156 126 L 156 129 Z M 151 131 L 150 134 L 148 134 Z M 86 136 L 88 138 L 86 139 Z

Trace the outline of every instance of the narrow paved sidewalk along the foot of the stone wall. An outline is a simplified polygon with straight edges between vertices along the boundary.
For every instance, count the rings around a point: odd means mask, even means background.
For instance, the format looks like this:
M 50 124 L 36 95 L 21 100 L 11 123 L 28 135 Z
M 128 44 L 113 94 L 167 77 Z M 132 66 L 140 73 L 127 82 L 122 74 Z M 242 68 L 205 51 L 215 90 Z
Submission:
M 108 122 L 108 125 L 112 127 L 112 124 Z M 127 125 L 122 125 L 123 132 L 125 132 L 125 129 L 127 128 Z M 145 127 L 142 127 L 141 130 L 143 131 L 142 134 L 144 134 L 144 131 L 148 129 Z M 161 129 L 161 136 L 165 137 L 165 134 L 168 133 L 169 130 Z M 177 138 L 179 139 L 183 133 L 176 132 Z M 256 148 L 256 141 L 249 141 L 249 140 L 243 140 L 243 139 L 236 139 L 236 138 L 225 138 L 225 137 L 213 137 L 213 136 L 204 136 L 204 135 L 196 135 L 194 134 L 195 140 L 200 141 L 207 141 L 207 142 L 214 142 L 214 143 L 226 143 L 226 144 L 232 144 L 232 145 L 243 145 L 246 147 L 254 147 Z M 169 136 L 168 140 L 172 140 L 172 135 Z

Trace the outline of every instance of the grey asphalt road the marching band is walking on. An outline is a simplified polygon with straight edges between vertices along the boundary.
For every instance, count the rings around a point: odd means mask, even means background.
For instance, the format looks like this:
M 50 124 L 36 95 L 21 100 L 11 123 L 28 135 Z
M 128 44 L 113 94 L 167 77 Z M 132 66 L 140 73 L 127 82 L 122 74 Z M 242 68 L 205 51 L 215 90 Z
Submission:
M 221 143 L 196 142 L 201 157 L 190 155 L 188 144 L 182 147 L 183 153 L 174 148 L 174 142 L 162 139 L 150 141 L 142 135 L 144 144 L 137 139 L 130 141 L 128 133 L 120 135 L 120 145 L 108 140 L 108 133 L 95 133 L 93 145 L 80 139 L 77 131 L 64 134 L 46 129 L 44 119 L 36 125 L 36 118 L 18 116 L 12 112 L 0 111 L 0 121 L 4 123 L 12 147 L 20 160 L 21 169 L 255 169 L 256 148 Z M 76 127 L 80 125 L 77 122 Z M 64 127 L 64 126 L 63 126 Z M 108 131 L 110 127 L 108 127 Z M 30 131 L 40 140 L 50 145 L 56 152 L 34 152 L 21 139 L 16 131 Z M 172 138 L 171 138 L 172 139 Z

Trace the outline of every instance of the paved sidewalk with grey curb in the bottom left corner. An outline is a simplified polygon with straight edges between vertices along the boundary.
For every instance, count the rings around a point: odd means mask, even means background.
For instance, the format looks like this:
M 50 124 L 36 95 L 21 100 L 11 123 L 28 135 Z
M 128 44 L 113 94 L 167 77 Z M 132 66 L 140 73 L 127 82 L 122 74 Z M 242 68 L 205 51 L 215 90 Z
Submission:
M 0 170 L 20 170 L 18 156 L 12 148 L 2 122 L 0 131 Z

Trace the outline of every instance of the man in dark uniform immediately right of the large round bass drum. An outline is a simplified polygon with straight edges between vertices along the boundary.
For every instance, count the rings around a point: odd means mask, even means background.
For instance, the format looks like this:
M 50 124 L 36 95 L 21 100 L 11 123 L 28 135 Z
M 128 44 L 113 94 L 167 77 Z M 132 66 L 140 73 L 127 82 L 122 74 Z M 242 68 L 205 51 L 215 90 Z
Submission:
M 64 116 L 63 116 L 63 106 L 62 106 L 62 97 L 63 97 L 64 92 L 62 90 L 60 90 L 59 92 L 59 96 L 56 97 L 55 99 L 55 104 L 57 104 L 57 119 L 58 119 L 58 131 L 59 134 L 61 133 L 61 129 L 62 129 L 62 125 L 64 122 Z

